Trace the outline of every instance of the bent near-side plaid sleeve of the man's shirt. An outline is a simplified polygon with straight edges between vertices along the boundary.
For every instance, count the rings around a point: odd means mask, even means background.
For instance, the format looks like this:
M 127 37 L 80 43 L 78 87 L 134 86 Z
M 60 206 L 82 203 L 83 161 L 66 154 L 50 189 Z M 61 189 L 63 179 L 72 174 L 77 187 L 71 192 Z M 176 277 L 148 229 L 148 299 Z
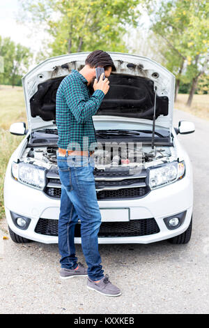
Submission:
M 89 100 L 86 101 L 81 84 L 77 80 L 70 81 L 63 86 L 65 101 L 78 123 L 84 123 L 99 109 L 105 94 L 97 89 Z

